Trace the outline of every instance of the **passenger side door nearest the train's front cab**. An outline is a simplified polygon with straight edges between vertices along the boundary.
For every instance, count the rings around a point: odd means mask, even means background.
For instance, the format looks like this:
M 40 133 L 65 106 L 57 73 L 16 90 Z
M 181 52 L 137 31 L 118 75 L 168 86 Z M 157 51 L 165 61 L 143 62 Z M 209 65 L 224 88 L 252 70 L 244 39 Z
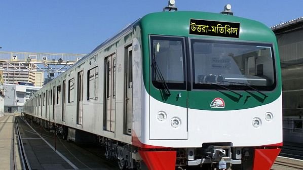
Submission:
M 105 131 L 115 132 L 116 125 L 116 55 L 105 58 Z

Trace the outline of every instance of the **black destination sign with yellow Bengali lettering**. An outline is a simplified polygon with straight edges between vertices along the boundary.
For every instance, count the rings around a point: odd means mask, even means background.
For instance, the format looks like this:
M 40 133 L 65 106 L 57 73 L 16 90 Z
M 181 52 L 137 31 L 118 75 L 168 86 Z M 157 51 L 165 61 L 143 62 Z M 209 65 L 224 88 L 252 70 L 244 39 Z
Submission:
M 191 19 L 190 34 L 239 38 L 240 23 Z

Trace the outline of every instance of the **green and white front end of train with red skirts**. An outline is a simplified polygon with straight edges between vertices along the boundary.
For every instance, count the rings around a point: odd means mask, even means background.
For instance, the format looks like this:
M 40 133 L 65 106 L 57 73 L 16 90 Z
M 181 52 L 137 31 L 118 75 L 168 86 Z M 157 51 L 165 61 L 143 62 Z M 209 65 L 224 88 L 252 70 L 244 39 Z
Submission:
M 282 146 L 274 33 L 178 11 L 148 14 L 134 30 L 132 141 L 147 167 L 270 169 Z

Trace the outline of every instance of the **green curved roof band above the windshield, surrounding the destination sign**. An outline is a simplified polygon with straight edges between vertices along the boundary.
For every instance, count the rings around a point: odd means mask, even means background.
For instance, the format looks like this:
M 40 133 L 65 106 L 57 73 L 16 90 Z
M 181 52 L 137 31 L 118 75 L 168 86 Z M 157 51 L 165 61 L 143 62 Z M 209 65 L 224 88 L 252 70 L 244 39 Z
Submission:
M 239 38 L 189 34 L 191 19 L 240 23 Z M 276 41 L 273 31 L 258 21 L 219 13 L 193 11 L 158 12 L 145 15 L 138 23 L 141 26 L 143 34 L 265 41 L 272 43 Z

